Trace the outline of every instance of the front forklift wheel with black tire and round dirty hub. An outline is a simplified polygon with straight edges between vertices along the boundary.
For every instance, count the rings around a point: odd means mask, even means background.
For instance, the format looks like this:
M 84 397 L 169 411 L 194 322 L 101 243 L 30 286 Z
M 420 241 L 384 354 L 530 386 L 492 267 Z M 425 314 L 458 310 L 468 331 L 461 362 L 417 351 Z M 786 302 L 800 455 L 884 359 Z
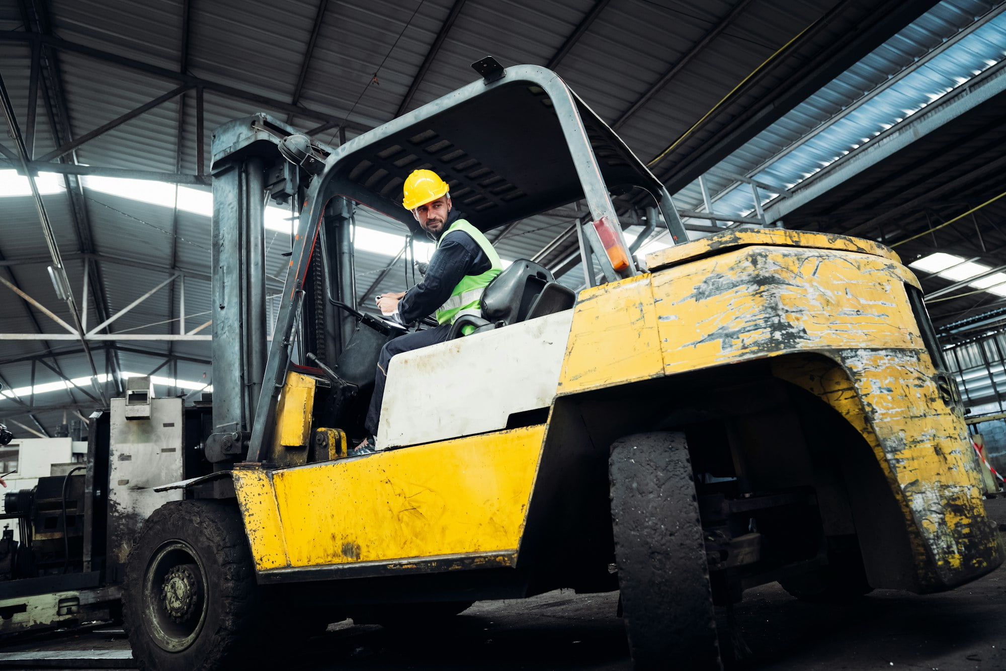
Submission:
M 172 501 L 133 546 L 124 627 L 140 669 L 217 670 L 241 664 L 261 626 L 260 594 L 233 502 Z M 261 647 L 260 647 L 261 648 Z

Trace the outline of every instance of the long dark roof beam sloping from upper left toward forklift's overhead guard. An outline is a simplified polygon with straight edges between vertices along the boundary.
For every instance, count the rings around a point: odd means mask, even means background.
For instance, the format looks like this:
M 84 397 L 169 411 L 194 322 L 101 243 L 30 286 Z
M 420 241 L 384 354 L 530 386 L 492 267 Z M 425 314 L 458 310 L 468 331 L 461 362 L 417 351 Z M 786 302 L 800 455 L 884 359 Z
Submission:
M 291 105 L 285 101 L 278 100 L 276 98 L 271 98 L 269 96 L 260 96 L 258 94 L 253 94 L 241 89 L 234 87 L 228 87 L 226 85 L 218 83 L 210 79 L 205 79 L 199 76 L 193 76 L 187 73 L 176 72 L 174 70 L 168 69 L 167 67 L 159 67 L 157 65 L 152 65 L 150 63 L 145 63 L 142 60 L 136 60 L 134 58 L 127 58 L 126 56 L 121 56 L 116 53 L 111 53 L 109 51 L 103 51 L 102 49 L 96 49 L 91 46 L 86 46 L 83 44 L 77 44 L 69 40 L 60 39 L 52 35 L 34 33 L 34 32 L 23 32 L 20 30 L 5 30 L 0 31 L 0 42 L 31 42 L 37 41 L 43 46 L 48 46 L 54 49 L 59 49 L 61 51 L 70 51 L 72 53 L 79 53 L 80 55 L 88 56 L 90 58 L 95 58 L 96 60 L 102 60 L 105 62 L 114 63 L 116 65 L 121 65 L 123 67 L 128 67 L 130 69 L 135 69 L 141 72 L 146 72 L 153 76 L 160 77 L 162 79 L 168 79 L 169 81 L 178 81 L 180 83 L 188 85 L 190 87 L 196 87 L 205 89 L 206 91 L 212 91 L 213 93 L 220 94 L 221 96 L 226 96 L 227 98 L 232 98 L 239 101 L 244 101 L 247 103 L 256 103 L 257 105 L 263 105 L 274 110 L 279 110 L 280 112 L 288 112 L 296 114 L 301 117 L 306 117 L 308 119 L 316 119 L 318 121 L 335 122 L 336 126 L 339 125 L 340 120 L 335 116 L 326 114 L 324 112 L 318 112 L 317 110 L 311 110 L 309 108 L 300 105 Z M 346 124 L 348 127 L 355 131 L 365 132 L 371 130 L 369 127 L 362 124 L 350 123 Z

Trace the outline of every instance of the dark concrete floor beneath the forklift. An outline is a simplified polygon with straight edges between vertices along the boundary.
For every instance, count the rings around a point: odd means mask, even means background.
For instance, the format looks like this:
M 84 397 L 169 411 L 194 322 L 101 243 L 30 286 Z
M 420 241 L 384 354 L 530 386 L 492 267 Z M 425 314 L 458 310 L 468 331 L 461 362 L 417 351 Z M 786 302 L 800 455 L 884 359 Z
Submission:
M 989 516 L 1006 522 L 1006 498 L 988 504 Z M 627 670 L 631 663 L 617 600 L 616 594 L 553 592 L 484 602 L 459 616 L 451 629 L 434 632 L 340 623 L 292 653 L 287 668 Z M 1006 567 L 955 592 L 918 597 L 877 591 L 841 607 L 804 604 L 769 584 L 748 591 L 735 616 L 752 653 L 739 666 L 743 669 L 1006 669 Z M 82 654 L 93 657 L 90 668 L 132 668 L 128 649 L 115 631 L 48 635 L 5 646 L 0 668 L 40 668 L 44 662 L 21 656 L 28 652 Z M 104 662 L 94 659 L 103 656 Z M 71 668 L 78 662 L 45 664 Z

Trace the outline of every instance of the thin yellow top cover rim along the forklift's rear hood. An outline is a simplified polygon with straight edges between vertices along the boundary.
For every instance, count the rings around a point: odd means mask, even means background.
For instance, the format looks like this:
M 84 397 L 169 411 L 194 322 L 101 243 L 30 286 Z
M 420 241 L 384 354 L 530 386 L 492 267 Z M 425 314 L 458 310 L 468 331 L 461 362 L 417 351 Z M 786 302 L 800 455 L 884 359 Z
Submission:
M 897 254 L 890 247 L 861 237 L 783 228 L 759 228 L 724 230 L 721 233 L 714 233 L 692 242 L 660 249 L 647 255 L 646 266 L 651 272 L 660 271 L 701 257 L 723 254 L 728 249 L 752 244 L 856 251 L 882 257 L 895 263 L 901 262 Z

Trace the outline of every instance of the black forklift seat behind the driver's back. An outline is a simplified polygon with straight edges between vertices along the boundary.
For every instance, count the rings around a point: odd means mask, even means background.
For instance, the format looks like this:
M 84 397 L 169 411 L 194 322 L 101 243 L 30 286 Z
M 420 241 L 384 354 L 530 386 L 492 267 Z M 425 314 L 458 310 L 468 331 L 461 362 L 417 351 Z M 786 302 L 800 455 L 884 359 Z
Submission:
M 489 331 L 568 310 L 575 302 L 575 292 L 555 282 L 547 268 L 518 259 L 482 293 L 482 317 L 462 315 L 455 321 L 448 339 L 465 335 L 462 329 L 466 326 L 474 326 L 473 333 Z

